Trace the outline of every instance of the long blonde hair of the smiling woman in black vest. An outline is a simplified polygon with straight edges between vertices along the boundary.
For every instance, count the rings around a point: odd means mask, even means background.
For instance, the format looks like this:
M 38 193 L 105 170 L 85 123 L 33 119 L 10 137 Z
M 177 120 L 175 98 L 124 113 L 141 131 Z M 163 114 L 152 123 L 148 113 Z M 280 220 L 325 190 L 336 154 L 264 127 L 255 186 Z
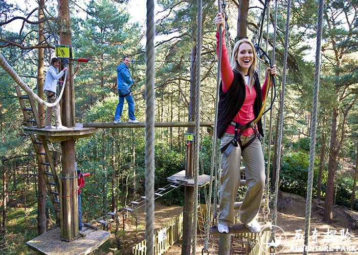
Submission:
M 249 43 L 251 45 L 251 47 L 252 47 L 252 51 L 253 51 L 253 54 L 254 54 L 253 62 L 252 62 L 251 66 L 249 68 L 249 71 L 248 71 L 248 74 L 249 74 L 248 87 L 249 87 L 250 92 L 251 92 L 251 88 L 255 84 L 254 74 L 255 74 L 255 66 L 256 66 L 256 62 L 257 62 L 257 57 L 256 57 L 256 50 L 255 50 L 254 44 L 249 39 L 241 39 L 241 40 L 239 40 L 239 41 L 237 41 L 235 43 L 233 53 L 232 53 L 232 56 L 231 56 L 231 68 L 233 69 L 233 71 L 236 71 L 236 72 L 240 73 L 241 76 L 242 76 L 242 79 L 245 81 L 245 75 L 242 73 L 241 67 L 240 67 L 238 61 L 236 60 L 237 53 L 239 52 L 239 47 L 240 47 L 240 45 L 242 43 Z

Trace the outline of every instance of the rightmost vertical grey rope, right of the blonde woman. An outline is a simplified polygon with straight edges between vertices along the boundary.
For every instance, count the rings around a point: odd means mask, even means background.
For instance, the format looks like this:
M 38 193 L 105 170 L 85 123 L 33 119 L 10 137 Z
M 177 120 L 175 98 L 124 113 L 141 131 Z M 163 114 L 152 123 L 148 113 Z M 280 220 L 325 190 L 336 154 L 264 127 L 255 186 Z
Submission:
M 323 21 L 324 0 L 318 2 L 318 20 L 317 20 L 317 44 L 316 44 L 316 66 L 315 66 L 315 86 L 312 106 L 311 119 L 311 140 L 309 147 L 309 167 L 308 167 L 308 183 L 307 183 L 307 200 L 306 200 L 306 216 L 305 216 L 305 238 L 304 244 L 308 246 L 309 225 L 311 218 L 311 202 L 312 202 L 312 186 L 315 166 L 315 148 L 316 148 L 316 127 L 317 127 L 317 109 L 318 109 L 318 93 L 320 88 L 320 69 L 321 69 L 321 43 L 322 43 L 322 21 Z M 304 249 L 303 254 L 307 254 Z

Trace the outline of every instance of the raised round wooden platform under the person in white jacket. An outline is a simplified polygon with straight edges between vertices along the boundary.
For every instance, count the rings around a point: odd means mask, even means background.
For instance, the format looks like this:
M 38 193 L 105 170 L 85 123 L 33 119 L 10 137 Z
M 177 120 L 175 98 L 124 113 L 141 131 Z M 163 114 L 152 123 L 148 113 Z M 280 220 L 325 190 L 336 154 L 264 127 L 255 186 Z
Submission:
M 35 127 L 23 127 L 23 130 L 25 134 L 42 136 L 52 143 L 89 137 L 96 132 L 94 127 L 83 127 L 82 123 L 76 123 L 76 126 L 64 130 L 36 129 Z

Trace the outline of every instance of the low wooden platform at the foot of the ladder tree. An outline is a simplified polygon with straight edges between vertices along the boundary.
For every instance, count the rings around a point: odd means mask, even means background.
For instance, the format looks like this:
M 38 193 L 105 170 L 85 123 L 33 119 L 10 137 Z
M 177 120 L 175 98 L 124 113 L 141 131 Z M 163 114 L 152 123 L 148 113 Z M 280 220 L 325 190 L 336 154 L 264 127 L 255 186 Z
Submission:
M 84 255 L 97 249 L 110 236 L 109 232 L 91 228 L 83 233 L 85 233 L 85 237 L 66 242 L 61 240 L 61 229 L 58 227 L 28 241 L 27 244 L 41 254 Z

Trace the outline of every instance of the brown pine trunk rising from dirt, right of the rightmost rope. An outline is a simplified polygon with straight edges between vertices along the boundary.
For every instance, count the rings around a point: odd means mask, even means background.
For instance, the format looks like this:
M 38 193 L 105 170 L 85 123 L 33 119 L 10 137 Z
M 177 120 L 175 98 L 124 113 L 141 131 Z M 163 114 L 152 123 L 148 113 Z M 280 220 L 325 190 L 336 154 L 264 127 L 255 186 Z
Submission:
M 326 197 L 323 220 L 326 223 L 332 224 L 333 222 L 333 199 L 334 199 L 334 176 L 335 170 L 337 169 L 337 119 L 338 110 L 333 108 L 332 114 L 332 128 L 330 138 L 330 154 L 328 159 L 328 174 L 327 174 L 327 185 L 326 185 Z

